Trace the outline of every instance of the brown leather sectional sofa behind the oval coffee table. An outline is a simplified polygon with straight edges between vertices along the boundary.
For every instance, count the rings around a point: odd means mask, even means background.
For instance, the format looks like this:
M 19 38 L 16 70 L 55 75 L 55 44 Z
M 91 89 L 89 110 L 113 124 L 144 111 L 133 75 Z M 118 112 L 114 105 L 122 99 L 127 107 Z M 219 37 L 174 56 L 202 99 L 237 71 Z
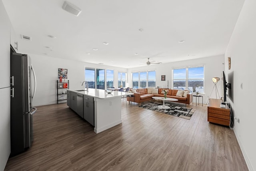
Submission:
M 163 88 L 158 89 L 158 94 L 148 93 L 147 88 L 136 89 L 136 93 L 134 92 L 134 98 L 127 97 L 127 101 L 134 100 L 134 102 L 136 102 L 136 103 L 141 103 L 144 101 L 151 100 L 152 97 L 164 97 L 164 94 L 162 94 L 162 89 Z M 178 101 L 175 101 L 175 102 L 185 103 L 185 104 L 190 104 L 192 102 L 192 93 L 188 93 L 186 97 L 180 97 L 180 96 L 176 96 L 178 89 L 168 89 L 168 90 L 169 90 L 169 92 L 167 93 L 166 97 L 178 99 Z M 184 91 L 188 91 L 188 90 L 184 90 Z

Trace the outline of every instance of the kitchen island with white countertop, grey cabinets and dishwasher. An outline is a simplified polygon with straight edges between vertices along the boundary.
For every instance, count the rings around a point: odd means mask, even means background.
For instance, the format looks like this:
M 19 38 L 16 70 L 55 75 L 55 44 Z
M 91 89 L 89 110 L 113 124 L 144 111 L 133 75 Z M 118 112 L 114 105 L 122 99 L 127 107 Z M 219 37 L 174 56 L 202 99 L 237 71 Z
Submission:
M 121 97 L 132 95 L 121 91 L 106 93 L 104 89 L 67 90 L 67 105 L 80 117 L 94 125 L 99 133 L 122 123 Z

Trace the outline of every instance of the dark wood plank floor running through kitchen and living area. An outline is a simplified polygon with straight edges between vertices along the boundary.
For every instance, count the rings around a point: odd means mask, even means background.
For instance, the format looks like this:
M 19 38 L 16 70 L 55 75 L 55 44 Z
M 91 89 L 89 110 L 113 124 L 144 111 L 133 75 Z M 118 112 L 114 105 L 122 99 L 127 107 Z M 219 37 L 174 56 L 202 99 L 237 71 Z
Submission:
M 233 130 L 187 106 L 190 120 L 122 101 L 122 123 L 98 134 L 66 103 L 39 106 L 32 147 L 5 170 L 248 171 Z

